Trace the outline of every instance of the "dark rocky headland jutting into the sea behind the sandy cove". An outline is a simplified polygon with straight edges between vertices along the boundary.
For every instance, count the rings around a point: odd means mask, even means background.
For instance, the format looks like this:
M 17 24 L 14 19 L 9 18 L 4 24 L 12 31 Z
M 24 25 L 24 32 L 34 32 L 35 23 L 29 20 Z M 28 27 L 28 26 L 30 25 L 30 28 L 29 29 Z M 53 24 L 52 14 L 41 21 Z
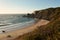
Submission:
M 60 14 L 60 7 L 56 7 L 56 8 L 37 10 L 34 11 L 34 13 L 32 14 L 28 13 L 26 17 L 51 20 L 55 15 L 59 15 L 59 14 Z

